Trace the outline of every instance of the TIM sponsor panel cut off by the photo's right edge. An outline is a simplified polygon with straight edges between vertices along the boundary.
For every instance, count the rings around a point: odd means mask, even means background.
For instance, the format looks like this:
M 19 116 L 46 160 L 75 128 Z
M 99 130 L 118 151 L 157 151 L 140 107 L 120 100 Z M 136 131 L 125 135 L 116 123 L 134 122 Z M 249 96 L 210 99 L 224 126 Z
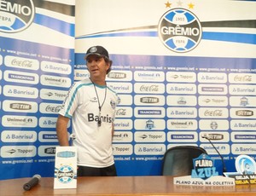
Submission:
M 256 108 L 230 108 L 231 118 L 256 118 Z

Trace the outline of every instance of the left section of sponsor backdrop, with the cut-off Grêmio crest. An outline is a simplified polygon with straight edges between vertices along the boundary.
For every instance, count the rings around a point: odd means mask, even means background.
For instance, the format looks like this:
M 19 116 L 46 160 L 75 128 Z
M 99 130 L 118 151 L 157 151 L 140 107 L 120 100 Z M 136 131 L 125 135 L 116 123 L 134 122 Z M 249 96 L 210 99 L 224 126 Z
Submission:
M 0 0 L 0 179 L 54 176 L 56 113 L 73 83 L 74 1 Z

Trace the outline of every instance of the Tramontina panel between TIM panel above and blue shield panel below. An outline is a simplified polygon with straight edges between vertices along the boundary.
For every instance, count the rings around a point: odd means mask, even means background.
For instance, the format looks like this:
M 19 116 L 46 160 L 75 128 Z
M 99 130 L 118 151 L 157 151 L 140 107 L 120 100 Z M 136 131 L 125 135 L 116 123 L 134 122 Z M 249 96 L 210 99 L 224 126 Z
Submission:
M 137 118 L 164 118 L 165 107 L 135 107 L 134 116 Z

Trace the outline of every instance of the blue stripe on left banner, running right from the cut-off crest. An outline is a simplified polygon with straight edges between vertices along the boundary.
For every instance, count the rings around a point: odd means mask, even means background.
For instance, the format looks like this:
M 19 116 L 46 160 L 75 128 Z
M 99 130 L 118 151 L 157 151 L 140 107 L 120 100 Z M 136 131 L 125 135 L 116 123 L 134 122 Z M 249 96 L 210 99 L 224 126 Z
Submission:
M 57 20 L 43 14 L 35 14 L 34 23 L 74 37 L 74 24 L 64 22 L 63 20 Z

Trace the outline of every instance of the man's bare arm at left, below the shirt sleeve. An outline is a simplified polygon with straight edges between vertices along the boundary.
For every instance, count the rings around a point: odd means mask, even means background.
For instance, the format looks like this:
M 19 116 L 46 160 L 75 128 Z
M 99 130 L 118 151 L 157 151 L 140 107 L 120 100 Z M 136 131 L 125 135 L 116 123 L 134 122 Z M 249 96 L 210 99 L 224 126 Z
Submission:
M 59 115 L 56 123 L 56 132 L 61 147 L 69 146 L 67 124 L 69 118 Z

